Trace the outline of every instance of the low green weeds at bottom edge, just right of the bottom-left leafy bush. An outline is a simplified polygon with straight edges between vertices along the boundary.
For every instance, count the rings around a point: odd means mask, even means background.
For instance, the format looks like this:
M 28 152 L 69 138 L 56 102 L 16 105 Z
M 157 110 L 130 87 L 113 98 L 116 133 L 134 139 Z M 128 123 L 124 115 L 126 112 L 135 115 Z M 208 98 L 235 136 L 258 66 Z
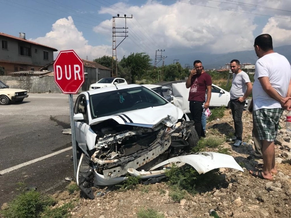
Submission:
M 68 211 L 73 208 L 74 204 L 72 202 L 65 203 L 63 206 L 53 209 L 50 207 L 46 207 L 45 211 L 41 215 L 41 218 L 68 218 L 71 217 Z

